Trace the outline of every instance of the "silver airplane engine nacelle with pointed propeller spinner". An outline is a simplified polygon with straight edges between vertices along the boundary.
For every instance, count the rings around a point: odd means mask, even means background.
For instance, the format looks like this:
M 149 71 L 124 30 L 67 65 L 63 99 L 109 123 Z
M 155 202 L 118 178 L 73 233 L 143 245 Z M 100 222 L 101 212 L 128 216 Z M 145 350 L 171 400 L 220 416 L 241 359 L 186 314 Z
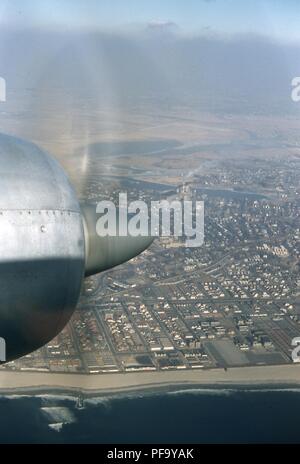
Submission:
M 32 143 L 0 134 L 0 340 L 6 361 L 63 329 L 84 276 L 125 262 L 152 242 L 98 237 L 96 223 L 96 208 L 79 205 L 55 160 Z

